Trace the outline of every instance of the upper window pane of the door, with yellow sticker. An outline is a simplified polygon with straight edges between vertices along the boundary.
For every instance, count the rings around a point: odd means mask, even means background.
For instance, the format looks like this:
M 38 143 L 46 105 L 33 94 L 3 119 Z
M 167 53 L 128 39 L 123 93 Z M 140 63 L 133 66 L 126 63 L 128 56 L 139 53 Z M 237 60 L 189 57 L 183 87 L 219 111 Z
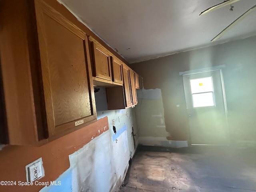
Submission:
M 191 93 L 213 92 L 212 77 L 191 79 Z

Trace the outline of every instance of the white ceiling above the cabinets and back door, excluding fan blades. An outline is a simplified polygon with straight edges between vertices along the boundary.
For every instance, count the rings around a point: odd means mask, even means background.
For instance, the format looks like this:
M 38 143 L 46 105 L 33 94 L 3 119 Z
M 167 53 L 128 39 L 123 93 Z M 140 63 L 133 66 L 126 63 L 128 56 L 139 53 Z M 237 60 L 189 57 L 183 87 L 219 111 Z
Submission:
M 256 11 L 217 42 L 210 40 L 256 4 L 240 0 L 199 16 L 223 0 L 58 0 L 128 62 L 256 35 Z

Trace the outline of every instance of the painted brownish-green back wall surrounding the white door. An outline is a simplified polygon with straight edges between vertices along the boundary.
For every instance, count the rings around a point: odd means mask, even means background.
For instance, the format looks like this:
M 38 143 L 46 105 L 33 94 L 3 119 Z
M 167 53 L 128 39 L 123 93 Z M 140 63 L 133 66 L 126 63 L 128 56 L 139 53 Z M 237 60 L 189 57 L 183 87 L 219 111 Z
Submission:
M 182 43 L 182 42 L 181 42 Z M 188 139 L 188 116 L 179 72 L 225 65 L 223 68 L 228 124 L 233 141 L 256 140 L 256 36 L 225 44 L 132 64 L 144 89 L 160 89 L 170 140 Z M 141 108 L 141 113 L 146 113 Z M 149 131 L 150 132 L 150 131 Z M 151 135 L 154 136 L 154 135 Z

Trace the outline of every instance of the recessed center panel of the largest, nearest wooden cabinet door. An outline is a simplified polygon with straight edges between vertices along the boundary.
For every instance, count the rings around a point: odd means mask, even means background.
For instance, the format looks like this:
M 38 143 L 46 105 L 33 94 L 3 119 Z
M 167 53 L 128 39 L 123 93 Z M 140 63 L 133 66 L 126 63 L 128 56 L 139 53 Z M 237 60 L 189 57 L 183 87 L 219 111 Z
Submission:
M 91 114 L 90 106 L 86 106 L 90 96 L 84 40 L 51 18 L 44 19 L 54 120 L 58 126 Z

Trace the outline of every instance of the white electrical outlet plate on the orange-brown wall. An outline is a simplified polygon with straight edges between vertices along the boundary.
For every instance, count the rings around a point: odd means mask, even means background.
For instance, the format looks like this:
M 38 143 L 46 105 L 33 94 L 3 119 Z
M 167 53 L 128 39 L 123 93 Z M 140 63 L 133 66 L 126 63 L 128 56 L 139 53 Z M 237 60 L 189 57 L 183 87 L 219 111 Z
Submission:
M 26 166 L 26 177 L 28 182 L 33 182 L 44 176 L 44 168 L 42 166 L 42 158 Z

